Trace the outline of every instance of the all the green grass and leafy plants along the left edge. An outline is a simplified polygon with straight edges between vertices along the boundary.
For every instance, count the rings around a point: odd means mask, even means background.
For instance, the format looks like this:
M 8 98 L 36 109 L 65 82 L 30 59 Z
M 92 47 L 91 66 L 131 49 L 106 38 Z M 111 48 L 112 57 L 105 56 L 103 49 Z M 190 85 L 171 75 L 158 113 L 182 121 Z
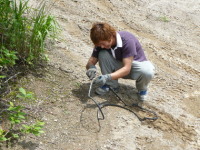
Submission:
M 54 39 L 59 31 L 48 12 L 45 2 L 31 8 L 29 0 L 0 0 L 0 98 L 6 98 L 5 103 L 0 103 L 0 123 L 6 122 L 6 129 L 0 126 L 0 144 L 26 133 L 43 133 L 44 122 L 28 123 L 24 107 L 14 104 L 34 102 L 35 95 L 24 88 L 13 91 L 11 86 L 19 80 L 19 74 L 26 74 L 26 66 L 36 69 L 36 64 L 48 60 L 46 40 Z

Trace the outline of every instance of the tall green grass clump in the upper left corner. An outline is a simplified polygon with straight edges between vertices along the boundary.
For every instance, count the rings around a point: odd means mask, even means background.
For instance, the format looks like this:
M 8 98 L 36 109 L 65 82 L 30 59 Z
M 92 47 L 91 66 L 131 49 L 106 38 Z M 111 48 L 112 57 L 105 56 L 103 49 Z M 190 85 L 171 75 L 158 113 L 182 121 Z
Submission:
M 0 60 L 4 65 L 14 65 L 17 58 L 28 64 L 46 60 L 45 40 L 56 35 L 58 24 L 47 14 L 45 3 L 33 9 L 28 7 L 28 2 L 0 0 L 1 53 L 11 54 Z

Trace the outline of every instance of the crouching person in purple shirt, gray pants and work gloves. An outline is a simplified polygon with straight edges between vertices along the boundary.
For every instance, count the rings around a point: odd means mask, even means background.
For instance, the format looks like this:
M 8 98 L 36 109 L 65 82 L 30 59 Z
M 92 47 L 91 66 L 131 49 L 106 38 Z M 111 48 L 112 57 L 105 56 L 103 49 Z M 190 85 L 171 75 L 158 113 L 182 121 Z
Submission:
M 119 90 L 118 79 L 136 80 L 138 100 L 147 97 L 147 87 L 154 76 L 154 66 L 147 60 L 138 39 L 130 32 L 116 31 L 107 23 L 94 23 L 90 30 L 94 49 L 86 69 L 92 80 L 99 62 L 102 75 L 94 80 L 99 85 L 96 93 L 104 95 L 110 88 Z

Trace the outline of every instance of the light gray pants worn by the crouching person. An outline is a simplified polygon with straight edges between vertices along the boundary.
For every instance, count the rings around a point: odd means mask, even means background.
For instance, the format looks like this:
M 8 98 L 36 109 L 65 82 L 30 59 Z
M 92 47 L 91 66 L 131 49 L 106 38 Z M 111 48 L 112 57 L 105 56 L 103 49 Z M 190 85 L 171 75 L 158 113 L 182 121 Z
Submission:
M 110 74 L 123 67 L 123 63 L 116 60 L 107 50 L 101 50 L 98 59 L 103 75 Z M 133 61 L 130 73 L 123 78 L 136 80 L 136 88 L 138 91 L 147 90 L 147 86 L 154 76 L 154 69 L 150 61 Z M 111 80 L 106 84 L 113 88 L 119 86 L 118 80 Z

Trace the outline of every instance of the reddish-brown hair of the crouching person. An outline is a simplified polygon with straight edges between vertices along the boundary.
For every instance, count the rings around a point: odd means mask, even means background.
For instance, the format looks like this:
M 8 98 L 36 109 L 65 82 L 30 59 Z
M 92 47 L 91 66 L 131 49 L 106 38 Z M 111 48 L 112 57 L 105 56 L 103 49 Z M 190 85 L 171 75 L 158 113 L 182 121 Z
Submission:
M 90 30 L 90 38 L 94 44 L 100 41 L 108 41 L 112 36 L 116 36 L 116 30 L 107 23 L 94 23 Z

